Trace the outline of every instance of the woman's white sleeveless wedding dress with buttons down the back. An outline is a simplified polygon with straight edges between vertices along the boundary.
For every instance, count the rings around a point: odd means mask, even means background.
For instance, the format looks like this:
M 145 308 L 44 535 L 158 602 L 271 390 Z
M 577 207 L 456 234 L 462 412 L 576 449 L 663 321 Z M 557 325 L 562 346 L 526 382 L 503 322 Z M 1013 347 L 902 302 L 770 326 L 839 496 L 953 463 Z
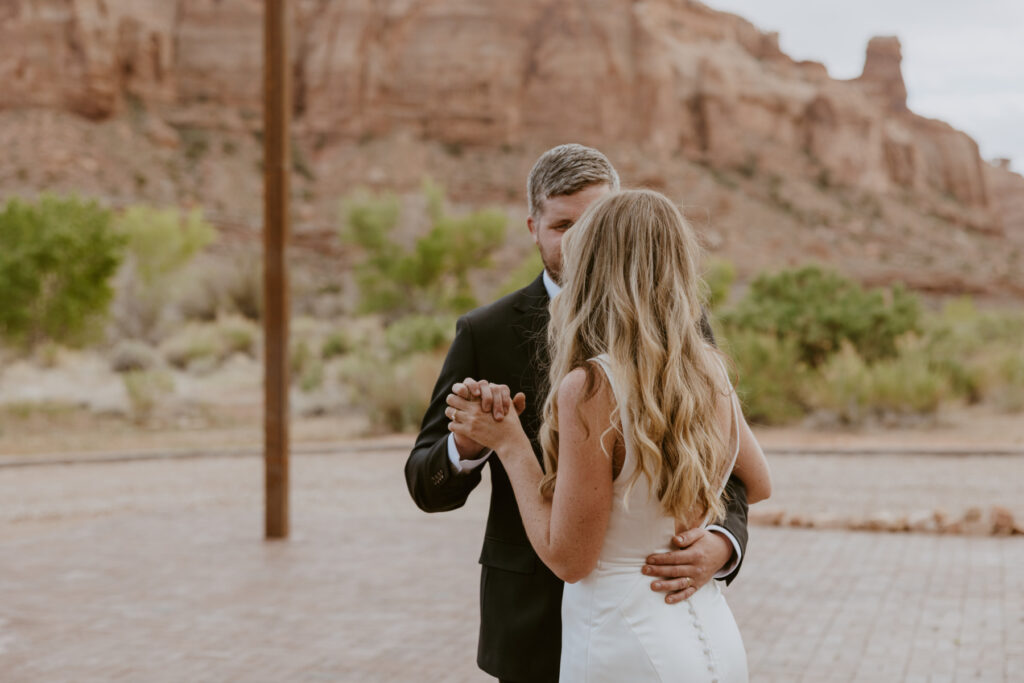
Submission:
M 607 357 L 602 354 L 595 360 L 617 398 Z M 618 405 L 623 433 L 629 433 L 629 415 L 622 401 Z M 739 452 L 735 392 L 732 410 L 735 464 Z M 653 580 L 641 573 L 649 554 L 672 549 L 676 523 L 662 510 L 644 475 L 633 486 L 627 508 L 626 483 L 636 468 L 629 443 L 627 439 L 626 458 L 613 484 L 611 516 L 597 566 L 582 581 L 566 584 L 562 594 L 559 681 L 745 682 L 746 652 L 719 582 L 712 580 L 688 600 L 670 605 L 664 593 L 650 589 Z

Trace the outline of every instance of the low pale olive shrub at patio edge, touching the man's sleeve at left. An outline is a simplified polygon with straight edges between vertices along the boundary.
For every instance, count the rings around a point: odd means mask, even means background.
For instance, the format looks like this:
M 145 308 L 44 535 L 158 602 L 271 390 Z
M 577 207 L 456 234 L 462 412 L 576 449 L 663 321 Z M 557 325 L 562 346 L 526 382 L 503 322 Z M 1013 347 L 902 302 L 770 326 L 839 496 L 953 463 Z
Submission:
M 340 379 L 353 402 L 364 407 L 375 432 L 413 431 L 433 392 L 443 352 L 414 353 L 390 360 L 371 353 L 344 358 Z

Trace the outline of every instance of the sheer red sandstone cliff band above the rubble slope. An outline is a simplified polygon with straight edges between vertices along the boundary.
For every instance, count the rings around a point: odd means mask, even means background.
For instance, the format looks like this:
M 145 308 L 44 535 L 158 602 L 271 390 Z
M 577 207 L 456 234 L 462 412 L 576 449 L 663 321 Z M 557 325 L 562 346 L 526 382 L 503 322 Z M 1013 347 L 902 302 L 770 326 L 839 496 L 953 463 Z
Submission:
M 896 38 L 873 39 L 863 75 L 841 82 L 790 59 L 777 36 L 685 0 L 296 6 L 297 124 L 306 134 L 408 130 L 488 147 L 629 142 L 990 206 L 975 142 L 907 112 Z M 260 16 L 256 0 L 3 0 L 0 109 L 105 118 L 126 102 L 226 105 L 251 120 Z

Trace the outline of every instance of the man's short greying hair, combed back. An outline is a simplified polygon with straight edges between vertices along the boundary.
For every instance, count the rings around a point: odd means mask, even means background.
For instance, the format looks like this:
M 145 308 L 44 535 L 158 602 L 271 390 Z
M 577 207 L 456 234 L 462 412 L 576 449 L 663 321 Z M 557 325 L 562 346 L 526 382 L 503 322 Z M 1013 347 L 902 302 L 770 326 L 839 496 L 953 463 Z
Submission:
M 526 179 L 529 215 L 537 218 L 552 197 L 574 195 L 598 184 L 618 189 L 618 174 L 607 157 L 583 144 L 552 147 L 541 155 Z

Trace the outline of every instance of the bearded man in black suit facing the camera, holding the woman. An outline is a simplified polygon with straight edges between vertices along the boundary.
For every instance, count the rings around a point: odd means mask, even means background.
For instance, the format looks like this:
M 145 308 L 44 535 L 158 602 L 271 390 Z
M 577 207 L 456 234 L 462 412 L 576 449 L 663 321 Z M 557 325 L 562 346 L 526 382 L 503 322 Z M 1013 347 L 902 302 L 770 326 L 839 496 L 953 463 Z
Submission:
M 546 152 L 526 182 L 526 224 L 544 261 L 530 285 L 461 317 L 419 437 L 406 463 L 406 480 L 426 512 L 462 507 L 490 469 L 490 510 L 480 552 L 480 638 L 477 665 L 502 681 L 555 683 L 561 647 L 562 582 L 529 545 L 508 475 L 497 457 L 447 430 L 445 396 L 464 382 L 486 410 L 501 410 L 498 387 L 526 395 L 520 416 L 534 451 L 546 397 L 548 302 L 559 291 L 562 236 L 595 201 L 618 189 L 618 175 L 597 150 L 563 144 Z M 711 338 L 707 321 L 705 334 Z M 473 378 L 485 378 L 477 381 Z M 689 597 L 713 577 L 731 582 L 746 546 L 746 492 L 735 477 L 726 487 L 728 514 L 709 529 L 677 536 L 680 549 L 652 555 L 644 573 L 670 602 Z M 654 550 L 654 549 L 651 549 Z

